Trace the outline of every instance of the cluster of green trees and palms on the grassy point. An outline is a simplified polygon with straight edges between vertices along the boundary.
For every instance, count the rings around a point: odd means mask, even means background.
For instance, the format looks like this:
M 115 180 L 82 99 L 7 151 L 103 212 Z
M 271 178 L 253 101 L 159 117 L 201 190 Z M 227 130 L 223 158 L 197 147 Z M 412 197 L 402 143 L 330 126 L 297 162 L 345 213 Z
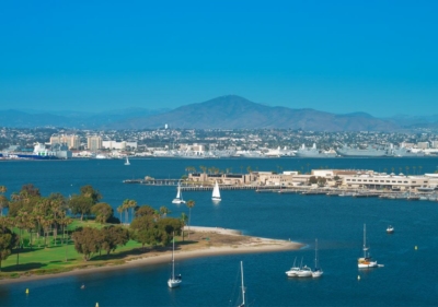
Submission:
M 95 255 L 101 256 L 102 251 L 110 255 L 129 239 L 140 243 L 142 248 L 146 245 L 164 246 L 172 240 L 173 234 L 183 233 L 188 221 L 185 213 L 180 219 L 168 217 L 171 213 L 168 208 L 155 210 L 149 205 L 137 205 L 130 199 L 117 208 L 117 219 L 113 208 L 101 202 L 102 194 L 92 186 L 81 187 L 78 194 L 69 198 L 60 193 L 43 197 L 39 189 L 32 184 L 24 185 L 10 199 L 5 197 L 5 192 L 7 188 L 0 186 L 0 270 L 1 261 L 13 249 L 19 264 L 23 248 L 46 248 L 50 243 L 55 246 L 67 245 L 69 236 L 73 240 L 74 249 L 85 261 Z M 194 201 L 187 201 L 189 210 L 194 205 Z M 8 214 L 3 216 L 4 209 L 8 209 Z M 68 231 L 74 220 L 82 221 L 84 217 L 93 217 L 100 228 L 79 227 Z

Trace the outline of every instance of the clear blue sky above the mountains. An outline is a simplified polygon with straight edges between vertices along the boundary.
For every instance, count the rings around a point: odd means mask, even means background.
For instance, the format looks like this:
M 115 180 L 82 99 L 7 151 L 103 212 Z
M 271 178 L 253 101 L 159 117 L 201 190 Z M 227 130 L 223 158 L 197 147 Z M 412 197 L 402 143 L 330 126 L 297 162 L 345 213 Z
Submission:
M 1 1 L 0 109 L 176 108 L 235 94 L 438 114 L 438 1 Z

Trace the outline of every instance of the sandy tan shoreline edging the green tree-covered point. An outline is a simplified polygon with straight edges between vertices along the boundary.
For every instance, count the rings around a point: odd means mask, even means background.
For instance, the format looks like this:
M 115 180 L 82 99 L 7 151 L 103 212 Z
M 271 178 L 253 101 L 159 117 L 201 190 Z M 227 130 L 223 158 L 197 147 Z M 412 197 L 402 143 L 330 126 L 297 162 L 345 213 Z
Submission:
M 185 227 L 184 231 L 187 231 Z M 215 257 L 223 255 L 237 253 L 257 253 L 257 252 L 274 252 L 286 250 L 298 250 L 304 245 L 281 239 L 270 239 L 262 237 L 244 236 L 240 231 L 227 229 L 221 227 L 203 227 L 191 226 L 191 236 L 199 239 L 195 246 L 184 246 L 180 244 L 175 250 L 175 257 L 178 260 Z M 204 237 L 204 235 L 208 235 Z M 211 239 L 210 239 L 211 237 Z M 166 263 L 170 261 L 171 249 L 165 251 L 149 250 L 136 258 L 125 259 L 125 263 L 120 264 L 106 264 L 102 267 L 90 267 L 83 269 L 73 269 L 68 272 L 47 273 L 44 275 L 22 275 L 19 278 L 10 278 L 0 280 L 1 284 L 24 283 L 33 282 L 44 279 L 65 278 L 79 274 L 90 274 L 93 272 L 105 272 L 112 270 L 130 269 L 135 267 L 153 265 Z M 90 263 L 90 265 L 93 265 Z

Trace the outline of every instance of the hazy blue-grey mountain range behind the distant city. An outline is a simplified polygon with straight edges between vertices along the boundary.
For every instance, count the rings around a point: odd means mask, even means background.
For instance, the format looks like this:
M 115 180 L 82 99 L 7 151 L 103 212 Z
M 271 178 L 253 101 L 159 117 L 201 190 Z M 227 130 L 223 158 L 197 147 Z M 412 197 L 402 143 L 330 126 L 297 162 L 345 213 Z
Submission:
M 331 114 L 311 108 L 270 107 L 237 95 L 175 109 L 126 108 L 99 114 L 0 110 L 0 126 L 70 129 L 302 129 L 306 131 L 402 131 L 438 129 L 438 115 L 376 118 L 366 113 Z

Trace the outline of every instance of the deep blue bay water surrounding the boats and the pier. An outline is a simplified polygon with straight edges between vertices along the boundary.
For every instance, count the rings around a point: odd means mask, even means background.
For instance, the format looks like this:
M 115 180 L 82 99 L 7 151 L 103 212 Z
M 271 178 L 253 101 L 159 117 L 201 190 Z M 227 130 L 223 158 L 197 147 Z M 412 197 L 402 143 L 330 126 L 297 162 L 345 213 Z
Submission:
M 125 185 L 124 179 L 177 178 L 187 166 L 215 166 L 232 172 L 355 168 L 391 172 L 413 166 L 422 173 L 437 169 L 436 158 L 333 158 L 333 160 L 132 160 L 1 162 L 0 185 L 7 194 L 34 184 L 44 196 L 59 191 L 79 193 L 92 185 L 114 208 L 129 198 L 138 204 L 166 205 L 171 216 L 188 212 L 171 200 L 175 187 Z M 420 167 L 419 167 L 420 166 Z M 239 265 L 245 271 L 250 306 L 438 306 L 438 203 L 428 201 L 353 199 L 326 196 L 222 191 L 215 205 L 210 192 L 185 192 L 196 202 L 192 225 L 241 229 L 245 235 L 281 238 L 307 245 L 298 251 L 246 253 L 177 260 L 184 282 L 169 290 L 169 264 L 84 273 L 34 282 L 0 285 L 0 306 L 235 306 Z M 362 227 L 371 255 L 384 268 L 357 269 L 362 255 Z M 388 224 L 395 227 L 388 235 Z M 285 274 L 297 257 L 313 264 L 314 239 L 319 239 L 319 280 L 288 279 Z M 414 247 L 418 248 L 415 249 Z M 360 281 L 358 281 L 360 275 Z M 84 283 L 85 290 L 80 290 Z M 25 295 L 25 290 L 30 294 Z

